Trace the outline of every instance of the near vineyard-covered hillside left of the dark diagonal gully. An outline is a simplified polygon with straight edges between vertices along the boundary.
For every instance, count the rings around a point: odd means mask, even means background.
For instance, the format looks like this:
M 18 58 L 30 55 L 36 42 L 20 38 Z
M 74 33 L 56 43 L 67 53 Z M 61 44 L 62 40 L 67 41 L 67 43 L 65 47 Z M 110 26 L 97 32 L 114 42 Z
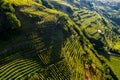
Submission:
M 20 2 L 9 0 L 9 2 L 17 5 L 16 15 L 22 21 L 22 32 L 19 36 L 14 36 L 12 39 L 14 42 L 8 41 L 2 44 L 4 50 L 13 44 L 14 46 L 0 56 L 0 68 L 9 67 L 5 71 L 0 70 L 1 79 L 35 79 L 37 76 L 37 79 L 44 80 L 85 78 L 96 80 L 103 77 L 99 70 L 103 67 L 93 46 L 66 14 L 45 8 L 32 0 L 29 4 L 27 0 Z M 61 24 L 60 27 L 56 26 L 59 20 L 63 23 L 63 17 L 67 23 Z M 19 64 L 18 59 L 23 62 Z M 89 62 L 91 59 L 92 63 Z M 12 65 L 14 63 L 15 65 Z M 11 66 L 13 69 L 10 70 Z M 15 72 L 16 69 L 18 70 Z M 11 77 L 12 75 L 14 76 Z

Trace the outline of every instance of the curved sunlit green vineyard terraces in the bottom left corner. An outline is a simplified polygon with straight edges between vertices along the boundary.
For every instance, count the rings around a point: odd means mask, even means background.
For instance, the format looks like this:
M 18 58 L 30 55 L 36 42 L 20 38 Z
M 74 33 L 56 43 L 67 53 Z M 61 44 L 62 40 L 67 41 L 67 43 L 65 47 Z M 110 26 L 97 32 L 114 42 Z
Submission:
M 40 69 L 40 64 L 36 61 L 30 59 L 16 59 L 0 67 L 0 79 L 20 79 Z

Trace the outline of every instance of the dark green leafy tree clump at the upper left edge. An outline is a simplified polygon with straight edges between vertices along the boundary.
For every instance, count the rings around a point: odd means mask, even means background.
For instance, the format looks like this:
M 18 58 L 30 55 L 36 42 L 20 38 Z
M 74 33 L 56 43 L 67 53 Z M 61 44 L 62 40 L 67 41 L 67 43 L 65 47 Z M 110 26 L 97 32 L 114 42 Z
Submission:
M 13 5 L 0 0 L 0 38 L 8 39 L 19 27 L 21 22 L 15 15 Z

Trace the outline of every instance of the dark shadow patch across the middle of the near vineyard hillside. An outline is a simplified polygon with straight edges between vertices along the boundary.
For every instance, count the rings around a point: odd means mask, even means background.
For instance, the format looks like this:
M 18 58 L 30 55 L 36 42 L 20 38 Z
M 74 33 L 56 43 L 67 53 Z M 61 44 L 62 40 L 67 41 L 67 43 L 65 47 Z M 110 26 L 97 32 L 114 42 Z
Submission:
M 61 49 L 65 39 L 71 35 L 69 31 L 63 29 L 64 25 L 65 24 L 57 24 L 55 26 L 54 24 L 47 24 L 44 25 L 44 28 L 41 28 L 41 25 L 37 28 L 37 32 L 42 42 L 44 42 L 45 48 L 51 47 L 50 63 L 48 63 L 47 66 L 63 59 L 63 57 L 60 56 L 62 53 Z

